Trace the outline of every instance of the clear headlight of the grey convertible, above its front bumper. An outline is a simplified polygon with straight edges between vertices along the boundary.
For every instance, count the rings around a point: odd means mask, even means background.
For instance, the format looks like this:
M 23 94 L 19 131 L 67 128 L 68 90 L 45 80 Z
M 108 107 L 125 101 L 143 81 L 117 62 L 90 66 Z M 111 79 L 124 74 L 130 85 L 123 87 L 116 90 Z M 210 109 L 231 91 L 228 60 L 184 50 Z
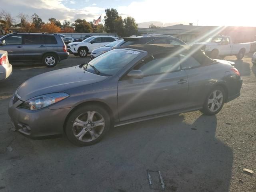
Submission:
M 38 110 L 49 105 L 52 105 L 56 102 L 59 102 L 67 98 L 68 96 L 69 94 L 67 93 L 51 93 L 41 95 L 25 101 L 24 103 L 22 103 L 21 107 L 30 110 Z

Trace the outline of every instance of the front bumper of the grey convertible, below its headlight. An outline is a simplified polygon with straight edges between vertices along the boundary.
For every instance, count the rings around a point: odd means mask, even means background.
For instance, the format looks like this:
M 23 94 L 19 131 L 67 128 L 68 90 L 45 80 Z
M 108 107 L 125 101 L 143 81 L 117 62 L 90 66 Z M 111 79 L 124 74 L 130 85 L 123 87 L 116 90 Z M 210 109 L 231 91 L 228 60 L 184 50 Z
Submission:
M 20 104 L 21 100 L 13 104 L 11 99 L 8 108 L 12 125 L 17 131 L 31 137 L 63 134 L 64 122 L 71 108 L 32 111 L 19 107 Z

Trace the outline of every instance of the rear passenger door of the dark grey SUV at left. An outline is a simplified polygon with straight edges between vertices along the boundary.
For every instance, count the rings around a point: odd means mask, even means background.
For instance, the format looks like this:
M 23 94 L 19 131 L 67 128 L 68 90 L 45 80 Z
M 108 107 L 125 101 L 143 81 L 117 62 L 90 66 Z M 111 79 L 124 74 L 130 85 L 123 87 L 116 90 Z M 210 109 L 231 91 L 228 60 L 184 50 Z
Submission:
M 41 60 L 43 53 L 46 51 L 46 46 L 43 42 L 43 37 L 40 34 L 23 35 L 23 52 L 24 60 L 38 61 Z

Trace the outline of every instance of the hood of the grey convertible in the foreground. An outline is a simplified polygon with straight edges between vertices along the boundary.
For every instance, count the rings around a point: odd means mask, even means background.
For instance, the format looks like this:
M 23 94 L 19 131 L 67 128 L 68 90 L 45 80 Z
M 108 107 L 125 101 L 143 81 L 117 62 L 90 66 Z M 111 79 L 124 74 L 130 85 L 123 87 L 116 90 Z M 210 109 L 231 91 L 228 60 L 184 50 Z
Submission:
M 93 74 L 81 69 L 79 66 L 54 70 L 34 76 L 26 80 L 17 90 L 20 100 L 43 94 L 64 92 L 70 88 L 88 85 L 105 80 L 108 77 Z

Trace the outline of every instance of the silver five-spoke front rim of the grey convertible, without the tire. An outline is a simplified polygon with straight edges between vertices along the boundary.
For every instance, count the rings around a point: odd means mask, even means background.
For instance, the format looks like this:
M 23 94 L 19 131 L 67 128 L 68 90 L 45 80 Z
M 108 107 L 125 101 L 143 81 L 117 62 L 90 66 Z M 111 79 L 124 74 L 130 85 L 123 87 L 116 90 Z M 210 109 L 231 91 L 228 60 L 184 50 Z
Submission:
M 82 142 L 96 140 L 104 131 L 105 120 L 96 111 L 88 111 L 80 114 L 73 122 L 73 134 Z

